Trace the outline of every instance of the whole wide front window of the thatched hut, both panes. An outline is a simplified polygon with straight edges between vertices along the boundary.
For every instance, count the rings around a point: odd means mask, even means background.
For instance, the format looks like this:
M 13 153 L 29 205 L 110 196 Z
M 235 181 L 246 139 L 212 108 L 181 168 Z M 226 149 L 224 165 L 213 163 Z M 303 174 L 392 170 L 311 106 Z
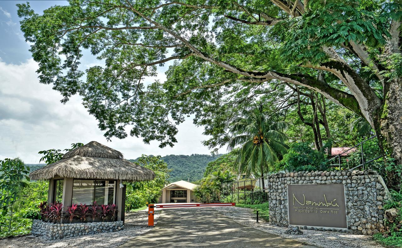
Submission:
M 116 181 L 74 179 L 72 204 L 92 205 L 115 203 Z

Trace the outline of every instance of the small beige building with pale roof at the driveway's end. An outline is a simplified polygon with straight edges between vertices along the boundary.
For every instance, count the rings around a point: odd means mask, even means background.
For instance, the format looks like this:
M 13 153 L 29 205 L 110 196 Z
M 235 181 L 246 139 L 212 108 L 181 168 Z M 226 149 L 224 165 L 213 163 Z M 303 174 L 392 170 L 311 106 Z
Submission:
M 192 203 L 194 202 L 193 191 L 197 186 L 183 180 L 172 182 L 162 189 L 158 203 Z

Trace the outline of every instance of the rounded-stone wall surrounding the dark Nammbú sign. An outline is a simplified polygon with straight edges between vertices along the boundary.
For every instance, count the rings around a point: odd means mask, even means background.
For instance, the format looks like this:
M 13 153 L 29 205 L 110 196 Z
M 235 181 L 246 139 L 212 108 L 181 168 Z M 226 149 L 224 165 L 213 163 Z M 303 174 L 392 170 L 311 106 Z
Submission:
M 337 231 L 373 235 L 384 232 L 384 201 L 390 195 L 384 180 L 376 172 L 290 172 L 276 173 L 269 177 L 269 223 L 289 226 L 287 184 L 342 183 L 345 189 L 347 229 L 307 228 L 320 231 Z

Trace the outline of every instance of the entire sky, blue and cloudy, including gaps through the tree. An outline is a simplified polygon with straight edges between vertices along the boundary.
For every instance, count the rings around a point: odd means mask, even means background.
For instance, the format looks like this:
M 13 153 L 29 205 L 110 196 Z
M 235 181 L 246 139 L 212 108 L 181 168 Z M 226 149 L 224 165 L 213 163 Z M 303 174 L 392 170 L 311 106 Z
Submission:
M 209 154 L 201 141 L 209 137 L 202 134 L 191 117 L 178 126 L 177 143 L 173 148 L 159 148 L 159 142 L 144 144 L 141 138 L 112 138 L 107 141 L 97 127 L 97 121 L 81 104 L 80 96 L 73 96 L 66 105 L 62 96 L 51 85 L 39 84 L 37 63 L 29 52 L 20 30 L 15 4 L 25 1 L 0 1 L 0 160 L 21 158 L 27 164 L 37 164 L 39 151 L 70 148 L 71 143 L 88 143 L 92 140 L 122 152 L 127 159 L 146 155 Z M 36 13 L 65 1 L 30 1 Z M 90 53 L 81 59 L 82 69 L 102 65 Z M 158 68 L 156 78 L 164 81 L 169 63 Z M 225 153 L 222 148 L 219 153 Z

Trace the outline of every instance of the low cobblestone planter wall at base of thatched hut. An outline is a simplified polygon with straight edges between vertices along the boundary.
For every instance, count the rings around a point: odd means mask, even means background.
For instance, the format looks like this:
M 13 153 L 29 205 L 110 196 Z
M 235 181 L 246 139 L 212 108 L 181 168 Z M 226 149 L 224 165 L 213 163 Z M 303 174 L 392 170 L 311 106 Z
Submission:
M 55 224 L 35 219 L 32 223 L 32 234 L 47 240 L 58 240 L 102 232 L 116 232 L 123 227 L 123 221 Z

